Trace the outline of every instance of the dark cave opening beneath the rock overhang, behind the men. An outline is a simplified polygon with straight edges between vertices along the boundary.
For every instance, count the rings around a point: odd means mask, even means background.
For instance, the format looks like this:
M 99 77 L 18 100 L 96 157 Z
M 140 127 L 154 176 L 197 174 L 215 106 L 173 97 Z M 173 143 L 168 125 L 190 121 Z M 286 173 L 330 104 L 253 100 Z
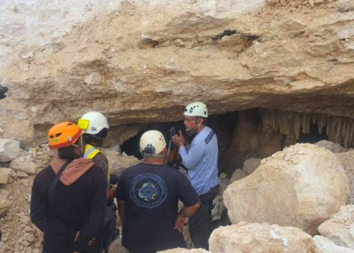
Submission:
M 229 177 L 237 168 L 242 168 L 246 159 L 265 158 L 295 143 L 329 140 L 345 147 L 354 146 L 353 119 L 328 114 L 253 108 L 211 115 L 207 125 L 218 138 L 219 172 Z M 121 146 L 122 152 L 141 159 L 138 147 L 141 135 L 147 130 L 158 130 L 168 143 L 172 126 L 184 132 L 182 120 L 151 123 L 126 140 Z

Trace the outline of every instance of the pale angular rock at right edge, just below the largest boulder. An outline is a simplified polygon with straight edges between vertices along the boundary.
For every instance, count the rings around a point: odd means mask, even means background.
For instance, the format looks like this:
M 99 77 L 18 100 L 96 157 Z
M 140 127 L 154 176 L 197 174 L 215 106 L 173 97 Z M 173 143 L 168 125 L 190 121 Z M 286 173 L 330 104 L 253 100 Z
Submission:
M 319 226 L 321 235 L 335 244 L 354 249 L 354 205 L 345 205 Z

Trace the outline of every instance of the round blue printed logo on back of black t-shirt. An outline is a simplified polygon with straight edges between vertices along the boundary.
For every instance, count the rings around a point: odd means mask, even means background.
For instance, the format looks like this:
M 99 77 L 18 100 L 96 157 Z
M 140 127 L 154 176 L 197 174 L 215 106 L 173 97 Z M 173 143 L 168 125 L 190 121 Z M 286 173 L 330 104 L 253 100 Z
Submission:
M 129 194 L 136 205 L 151 209 L 165 201 L 167 187 L 159 176 L 141 174 L 132 180 Z

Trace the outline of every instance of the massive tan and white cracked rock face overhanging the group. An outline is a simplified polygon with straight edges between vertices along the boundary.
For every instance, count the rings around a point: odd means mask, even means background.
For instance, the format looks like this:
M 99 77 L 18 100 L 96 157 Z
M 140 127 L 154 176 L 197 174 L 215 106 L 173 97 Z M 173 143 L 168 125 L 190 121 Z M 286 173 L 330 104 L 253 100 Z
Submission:
M 1 138 L 34 145 L 52 123 L 87 110 L 118 129 L 179 120 L 196 99 L 211 114 L 264 107 L 354 116 L 350 0 L 94 2 L 5 1 L 0 81 L 10 91 Z M 82 18 L 70 23 L 73 10 Z M 32 34 L 21 15 L 54 30 Z

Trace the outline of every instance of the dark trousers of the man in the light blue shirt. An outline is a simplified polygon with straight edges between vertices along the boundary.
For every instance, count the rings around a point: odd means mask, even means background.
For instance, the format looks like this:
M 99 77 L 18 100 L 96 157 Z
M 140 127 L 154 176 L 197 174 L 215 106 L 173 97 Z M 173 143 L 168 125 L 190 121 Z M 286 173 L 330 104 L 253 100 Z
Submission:
M 201 206 L 197 212 L 188 219 L 188 229 L 195 248 L 209 249 L 208 239 L 214 229 L 211 219 L 213 199 L 219 191 L 219 185 L 211 188 L 207 193 L 200 195 Z

